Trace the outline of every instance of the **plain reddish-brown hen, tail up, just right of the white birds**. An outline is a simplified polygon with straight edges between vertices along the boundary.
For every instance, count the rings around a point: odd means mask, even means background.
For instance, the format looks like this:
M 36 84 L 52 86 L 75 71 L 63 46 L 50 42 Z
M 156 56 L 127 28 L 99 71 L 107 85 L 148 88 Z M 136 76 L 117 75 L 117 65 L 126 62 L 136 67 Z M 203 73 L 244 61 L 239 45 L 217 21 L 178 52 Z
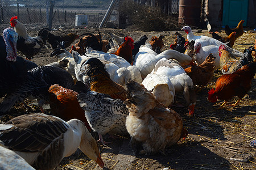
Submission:
M 185 72 L 193 80 L 194 85 L 203 87 L 209 83 L 215 70 L 214 59 L 215 57 L 210 53 L 201 65 L 193 65 L 185 69 Z

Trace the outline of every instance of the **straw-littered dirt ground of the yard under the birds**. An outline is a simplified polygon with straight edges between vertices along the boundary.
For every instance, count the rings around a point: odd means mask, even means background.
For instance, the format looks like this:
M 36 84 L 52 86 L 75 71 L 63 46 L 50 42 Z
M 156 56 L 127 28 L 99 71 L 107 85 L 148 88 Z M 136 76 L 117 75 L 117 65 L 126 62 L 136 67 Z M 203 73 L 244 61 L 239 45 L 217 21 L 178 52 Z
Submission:
M 35 36 L 36 32 L 44 25 L 26 26 L 28 27 L 28 33 Z M 9 27 L 9 25 L 2 24 L 0 31 L 3 31 L 6 27 Z M 168 49 L 168 46 L 174 42 L 175 33 L 175 31 L 141 32 L 134 29 L 110 28 L 101 28 L 100 31 L 105 34 L 103 39 L 106 39 L 108 33 L 115 33 L 115 35 L 121 37 L 130 35 L 135 41 L 143 35 L 147 35 L 149 39 L 152 36 L 163 35 L 164 49 Z M 95 28 L 74 28 L 70 25 L 56 27 L 55 31 L 52 31 L 56 35 L 70 32 L 76 32 L 79 35 L 86 32 L 97 33 Z M 184 37 L 186 36 L 185 32 L 181 33 Z M 205 30 L 199 33 L 195 32 L 195 34 L 210 36 Z M 224 31 L 222 31 L 222 35 L 224 35 Z M 250 29 L 246 29 L 243 36 L 237 39 L 233 48 L 242 52 L 243 49 L 254 44 L 255 35 Z M 57 61 L 56 58 L 50 57 L 51 52 L 52 49 L 49 44 L 46 44 L 46 47 L 32 61 L 38 65 L 46 65 Z M 129 146 L 130 137 L 108 139 L 106 135 L 104 137 L 105 141 L 111 142 L 108 147 L 99 143 L 101 156 L 105 162 L 103 169 L 256 169 L 256 148 L 249 146 L 250 141 L 256 139 L 256 79 L 253 79 L 251 90 L 241 100 L 238 107 L 225 106 L 224 109 L 218 109 L 223 101 L 217 101 L 216 104 L 209 103 L 207 94 L 210 88 L 214 88 L 217 78 L 221 75 L 221 71 L 217 70 L 208 86 L 197 92 L 195 115 L 193 117 L 188 115 L 186 107 L 171 107 L 183 117 L 184 126 L 189 133 L 185 140 L 167 148 L 166 155 L 135 155 L 135 152 Z M 180 104 L 184 104 L 185 101 L 183 95 L 179 93 L 176 94 L 175 100 Z M 31 103 L 29 100 L 26 102 Z M 234 100 L 230 100 L 229 103 L 234 103 Z M 35 105 L 31 105 L 31 107 L 34 109 L 33 113 L 40 112 Z M 49 109 L 46 111 L 50 112 Z M 5 122 L 13 116 L 26 113 L 30 112 L 20 104 L 11 109 L 10 116 L 7 115 L 1 121 Z M 98 139 L 96 133 L 93 133 L 93 136 Z M 82 154 L 80 150 L 77 150 L 72 156 L 64 158 L 56 169 L 101 168 Z

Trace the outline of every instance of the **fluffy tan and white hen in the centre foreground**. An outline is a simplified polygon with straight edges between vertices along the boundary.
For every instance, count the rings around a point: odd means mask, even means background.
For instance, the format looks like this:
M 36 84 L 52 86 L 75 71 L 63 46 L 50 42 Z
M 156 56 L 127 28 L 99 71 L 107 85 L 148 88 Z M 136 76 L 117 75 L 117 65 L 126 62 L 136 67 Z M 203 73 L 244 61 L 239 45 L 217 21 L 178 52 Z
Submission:
M 164 148 L 187 136 L 188 132 L 177 112 L 160 104 L 138 82 L 130 81 L 126 87 L 125 104 L 130 112 L 126 118 L 126 128 L 131 136 L 131 147 L 140 154 L 164 152 Z

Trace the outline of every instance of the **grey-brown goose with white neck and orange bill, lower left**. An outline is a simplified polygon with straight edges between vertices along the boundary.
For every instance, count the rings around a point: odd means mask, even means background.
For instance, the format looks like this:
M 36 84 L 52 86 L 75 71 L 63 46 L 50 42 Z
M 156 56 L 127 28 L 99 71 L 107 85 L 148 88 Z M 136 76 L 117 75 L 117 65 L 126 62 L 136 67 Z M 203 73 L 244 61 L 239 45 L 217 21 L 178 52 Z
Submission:
M 0 125 L 0 143 L 35 169 L 54 169 L 77 148 L 104 167 L 97 142 L 77 119 L 65 122 L 43 113 L 24 114 Z

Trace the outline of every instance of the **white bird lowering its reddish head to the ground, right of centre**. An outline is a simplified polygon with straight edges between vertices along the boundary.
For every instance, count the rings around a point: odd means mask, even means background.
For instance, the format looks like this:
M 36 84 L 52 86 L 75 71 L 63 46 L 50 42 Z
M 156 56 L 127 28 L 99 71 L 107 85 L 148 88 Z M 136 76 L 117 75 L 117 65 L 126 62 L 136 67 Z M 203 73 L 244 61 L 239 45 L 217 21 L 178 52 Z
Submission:
M 185 73 L 179 63 L 172 59 L 162 58 L 156 63 L 154 72 L 155 74 L 168 76 L 174 84 L 175 92 L 183 91 L 188 112 L 192 115 L 196 105 L 196 93 L 192 79 Z

